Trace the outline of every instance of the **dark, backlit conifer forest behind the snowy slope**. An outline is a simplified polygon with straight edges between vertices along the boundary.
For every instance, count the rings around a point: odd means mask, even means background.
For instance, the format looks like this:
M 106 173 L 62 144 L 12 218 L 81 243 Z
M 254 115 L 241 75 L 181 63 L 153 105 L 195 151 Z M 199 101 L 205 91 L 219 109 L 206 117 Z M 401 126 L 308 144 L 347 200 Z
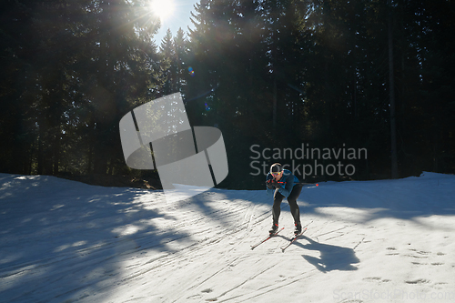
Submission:
M 126 166 L 118 123 L 180 92 L 223 134 L 219 187 L 340 158 L 308 180 L 455 173 L 453 0 L 200 0 L 161 41 L 147 3 L 2 1 L 0 172 L 157 177 Z

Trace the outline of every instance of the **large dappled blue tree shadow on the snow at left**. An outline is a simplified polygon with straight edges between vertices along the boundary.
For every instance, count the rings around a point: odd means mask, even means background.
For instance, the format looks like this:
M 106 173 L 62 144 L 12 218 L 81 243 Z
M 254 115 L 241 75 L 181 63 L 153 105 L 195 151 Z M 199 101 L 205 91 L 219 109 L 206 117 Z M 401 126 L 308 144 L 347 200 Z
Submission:
M 173 228 L 177 217 L 154 201 L 144 203 L 145 195 L 136 188 L 0 174 L 3 299 L 85 298 L 114 286 L 123 275 L 122 262 L 131 256 L 175 253 L 173 245 L 192 235 Z M 159 193 L 149 197 L 162 199 Z M 171 227 L 162 227 L 165 221 Z

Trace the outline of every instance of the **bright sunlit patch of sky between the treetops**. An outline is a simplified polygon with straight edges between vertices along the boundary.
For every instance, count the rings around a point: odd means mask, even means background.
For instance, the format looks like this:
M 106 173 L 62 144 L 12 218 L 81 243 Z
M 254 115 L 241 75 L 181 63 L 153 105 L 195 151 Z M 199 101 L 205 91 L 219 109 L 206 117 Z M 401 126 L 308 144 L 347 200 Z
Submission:
M 169 1 L 169 0 L 161 0 Z M 183 31 L 187 33 L 187 26 L 194 28 L 193 24 L 189 20 L 190 12 L 195 12 L 194 5 L 199 3 L 199 0 L 173 0 L 174 1 L 174 12 L 169 15 L 167 19 L 161 21 L 161 28 L 157 35 L 155 35 L 155 41 L 157 45 L 161 44 L 161 40 L 166 35 L 167 28 L 170 28 L 172 36 L 176 36 L 178 28 L 182 27 Z

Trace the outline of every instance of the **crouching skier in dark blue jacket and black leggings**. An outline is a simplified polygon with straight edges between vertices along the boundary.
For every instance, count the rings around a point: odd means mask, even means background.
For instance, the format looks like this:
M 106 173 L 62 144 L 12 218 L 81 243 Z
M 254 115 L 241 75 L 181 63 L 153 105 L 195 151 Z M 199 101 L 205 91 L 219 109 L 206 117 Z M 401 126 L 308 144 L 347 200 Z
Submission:
M 294 234 L 298 235 L 302 231 L 300 224 L 300 210 L 298 209 L 297 198 L 302 191 L 303 185 L 298 183 L 298 177 L 294 176 L 290 170 L 283 169 L 281 164 L 275 163 L 270 167 L 270 172 L 266 178 L 267 193 L 273 193 L 273 226 L 269 233 L 275 234 L 278 231 L 278 218 L 281 202 L 284 197 L 288 198 L 290 213 L 294 217 Z

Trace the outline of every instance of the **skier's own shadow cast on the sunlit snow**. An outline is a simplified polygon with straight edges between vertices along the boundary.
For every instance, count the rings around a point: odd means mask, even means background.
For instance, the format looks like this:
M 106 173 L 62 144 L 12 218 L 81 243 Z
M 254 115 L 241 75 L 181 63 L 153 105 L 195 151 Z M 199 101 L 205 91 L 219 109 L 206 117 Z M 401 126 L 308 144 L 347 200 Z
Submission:
M 335 245 L 323 244 L 314 241 L 309 237 L 302 236 L 308 240 L 309 244 L 301 244 L 297 241 L 295 244 L 298 247 L 302 247 L 308 250 L 317 250 L 320 252 L 320 257 L 312 257 L 308 255 L 302 255 L 308 263 L 312 264 L 319 271 L 327 273 L 332 270 L 357 270 L 358 268 L 353 264 L 360 262 L 357 258 L 354 249 L 349 247 L 339 247 Z

